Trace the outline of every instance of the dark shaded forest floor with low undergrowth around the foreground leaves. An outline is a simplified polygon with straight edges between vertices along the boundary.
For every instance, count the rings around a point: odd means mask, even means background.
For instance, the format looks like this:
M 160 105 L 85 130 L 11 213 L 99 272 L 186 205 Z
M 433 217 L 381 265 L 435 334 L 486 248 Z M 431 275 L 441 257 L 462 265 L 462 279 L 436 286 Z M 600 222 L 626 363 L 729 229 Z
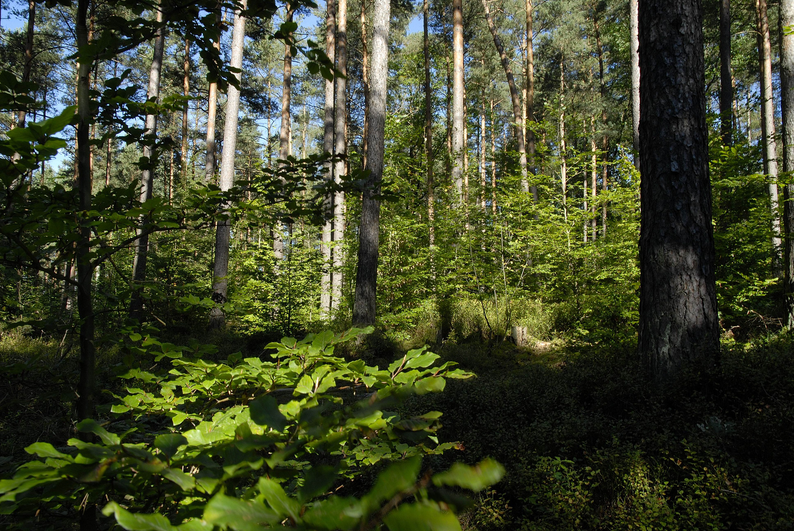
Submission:
M 264 345 L 216 339 L 222 355 Z M 476 377 L 405 405 L 442 411 L 439 439 L 464 447 L 430 466 L 490 456 L 507 467 L 461 516 L 464 529 L 794 529 L 791 335 L 726 342 L 711 375 L 684 374 L 666 386 L 649 383 L 630 346 L 431 350 Z M 380 342 L 361 357 L 384 366 L 399 355 Z M 102 388 L 118 385 L 119 358 L 102 350 Z M 73 436 L 76 371 L 75 354 L 57 342 L 0 340 L 0 472 L 33 441 L 58 446 Z

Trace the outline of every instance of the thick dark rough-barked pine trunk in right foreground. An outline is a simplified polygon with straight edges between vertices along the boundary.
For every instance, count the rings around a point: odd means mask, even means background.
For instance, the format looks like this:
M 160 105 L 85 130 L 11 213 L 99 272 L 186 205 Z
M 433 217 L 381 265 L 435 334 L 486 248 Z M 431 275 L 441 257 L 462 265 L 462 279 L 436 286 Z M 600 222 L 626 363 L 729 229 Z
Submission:
M 642 0 L 639 353 L 657 379 L 719 352 L 700 0 Z

